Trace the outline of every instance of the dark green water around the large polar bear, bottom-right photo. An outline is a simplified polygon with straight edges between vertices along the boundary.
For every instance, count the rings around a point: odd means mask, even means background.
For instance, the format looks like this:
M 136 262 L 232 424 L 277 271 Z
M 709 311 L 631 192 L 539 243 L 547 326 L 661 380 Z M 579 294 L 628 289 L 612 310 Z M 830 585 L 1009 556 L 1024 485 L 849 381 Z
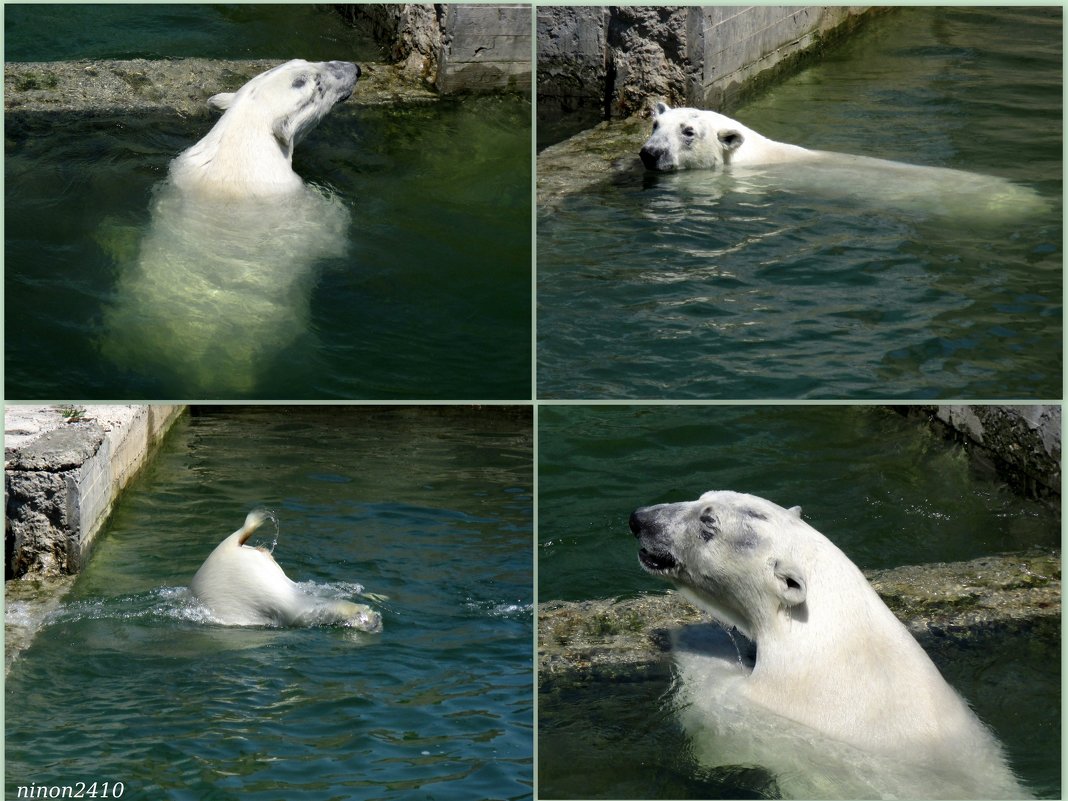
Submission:
M 665 592 L 639 567 L 628 517 L 709 489 L 800 505 L 864 569 L 1061 543 L 1055 511 L 888 408 L 543 406 L 538 601 Z M 1058 642 L 988 638 L 939 665 L 1043 798 L 1061 791 L 1058 655 Z M 616 681 L 544 680 L 543 798 L 750 798 L 764 786 L 694 764 L 670 712 L 668 664 Z

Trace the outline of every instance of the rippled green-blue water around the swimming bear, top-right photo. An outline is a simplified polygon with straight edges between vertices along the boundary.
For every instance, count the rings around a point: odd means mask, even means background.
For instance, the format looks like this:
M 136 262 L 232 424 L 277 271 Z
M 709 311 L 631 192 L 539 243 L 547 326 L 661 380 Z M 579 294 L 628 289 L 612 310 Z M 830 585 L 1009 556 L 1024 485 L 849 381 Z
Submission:
M 1062 32 L 1057 7 L 899 9 L 732 112 L 1008 178 L 1046 211 L 976 221 L 878 184 L 754 194 L 712 173 L 540 209 L 539 395 L 1061 397 Z

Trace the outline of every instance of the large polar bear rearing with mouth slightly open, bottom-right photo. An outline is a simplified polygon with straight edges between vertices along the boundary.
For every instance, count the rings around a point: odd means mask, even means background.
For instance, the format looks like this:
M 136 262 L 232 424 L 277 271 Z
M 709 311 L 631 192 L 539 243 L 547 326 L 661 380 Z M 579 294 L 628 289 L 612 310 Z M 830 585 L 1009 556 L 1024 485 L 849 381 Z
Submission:
M 756 647 L 682 639 L 677 703 L 710 765 L 758 764 L 794 798 L 1025 798 L 1002 748 L 860 569 L 763 498 L 637 509 L 639 561 Z M 692 639 L 692 638 L 691 638 Z

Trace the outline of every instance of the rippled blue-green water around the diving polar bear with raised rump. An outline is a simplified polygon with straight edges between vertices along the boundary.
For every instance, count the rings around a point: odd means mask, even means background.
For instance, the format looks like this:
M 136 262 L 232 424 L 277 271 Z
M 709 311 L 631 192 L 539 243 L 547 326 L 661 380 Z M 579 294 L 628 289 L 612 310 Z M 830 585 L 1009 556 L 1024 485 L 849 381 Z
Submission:
M 530 798 L 529 410 L 203 411 L 13 664 L 7 797 Z M 381 633 L 200 622 L 183 587 L 256 505 L 287 575 L 370 603 Z

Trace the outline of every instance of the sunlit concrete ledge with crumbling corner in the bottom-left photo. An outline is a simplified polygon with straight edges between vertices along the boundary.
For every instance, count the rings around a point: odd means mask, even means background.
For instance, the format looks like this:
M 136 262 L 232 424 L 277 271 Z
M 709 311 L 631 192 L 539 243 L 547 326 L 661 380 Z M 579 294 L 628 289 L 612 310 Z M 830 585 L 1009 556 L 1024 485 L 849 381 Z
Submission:
M 5 578 L 75 574 L 184 406 L 7 406 Z

